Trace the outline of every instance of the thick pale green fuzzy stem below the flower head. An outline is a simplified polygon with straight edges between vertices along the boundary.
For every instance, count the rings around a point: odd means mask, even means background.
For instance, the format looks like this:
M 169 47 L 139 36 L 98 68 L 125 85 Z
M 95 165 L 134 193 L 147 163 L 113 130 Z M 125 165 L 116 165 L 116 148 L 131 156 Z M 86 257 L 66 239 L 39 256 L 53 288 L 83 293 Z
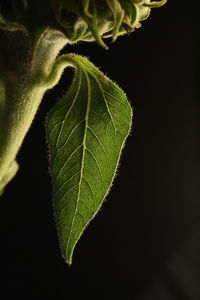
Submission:
M 42 33 L 36 47 L 32 51 L 29 49 L 24 57 L 25 72 L 16 71 L 15 65 L 3 66 L 0 72 L 0 191 L 17 172 L 16 155 L 44 93 L 59 80 L 51 85 L 45 82 L 66 44 L 62 37 L 54 37 L 55 32 L 45 30 Z

